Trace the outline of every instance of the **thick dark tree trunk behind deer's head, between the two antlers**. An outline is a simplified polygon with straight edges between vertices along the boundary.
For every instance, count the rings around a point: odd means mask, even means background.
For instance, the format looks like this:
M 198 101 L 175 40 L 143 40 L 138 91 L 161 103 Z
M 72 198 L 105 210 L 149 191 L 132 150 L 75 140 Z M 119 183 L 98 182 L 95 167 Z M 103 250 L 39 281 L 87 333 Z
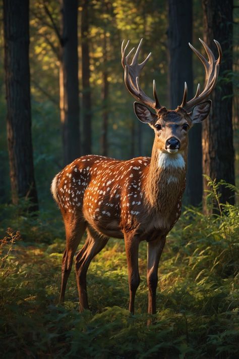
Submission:
M 170 108 L 175 109 L 183 99 L 184 82 L 188 84 L 188 98 L 193 97 L 192 0 L 169 0 L 169 84 Z M 201 126 L 189 133 L 188 173 L 186 194 L 189 204 L 202 202 L 202 145 Z

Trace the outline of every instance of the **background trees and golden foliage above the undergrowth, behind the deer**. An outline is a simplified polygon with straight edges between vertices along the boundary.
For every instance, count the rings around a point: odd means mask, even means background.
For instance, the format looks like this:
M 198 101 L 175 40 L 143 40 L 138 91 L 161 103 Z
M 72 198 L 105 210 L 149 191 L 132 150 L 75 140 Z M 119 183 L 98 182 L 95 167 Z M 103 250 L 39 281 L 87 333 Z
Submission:
M 232 0 L 4 0 L 1 201 L 9 201 L 11 183 L 13 203 L 29 197 L 33 210 L 38 202 L 44 209 L 54 174 L 87 153 L 120 159 L 150 156 L 152 133 L 137 121 L 124 85 L 124 38 L 132 46 L 144 38 L 142 58 L 153 54 L 142 87 L 150 94 L 155 79 L 160 103 L 173 109 L 181 104 L 184 81 L 191 98 L 197 83 L 204 84 L 203 66 L 188 42 L 201 52 L 198 37 L 203 37 L 215 55 L 213 39 L 221 43 L 223 60 L 210 118 L 190 134 L 186 203 L 202 202 L 202 173 L 234 184 L 238 30 L 233 14 L 236 19 Z M 233 193 L 221 190 L 222 202 L 233 204 Z

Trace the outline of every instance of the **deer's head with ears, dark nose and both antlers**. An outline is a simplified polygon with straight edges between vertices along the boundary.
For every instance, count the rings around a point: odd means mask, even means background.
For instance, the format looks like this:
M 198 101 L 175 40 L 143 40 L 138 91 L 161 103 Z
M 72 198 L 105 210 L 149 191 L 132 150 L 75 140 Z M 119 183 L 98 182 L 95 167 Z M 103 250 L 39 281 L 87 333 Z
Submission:
M 165 107 L 161 107 L 159 104 L 155 81 L 153 80 L 153 95 L 154 100 L 148 97 L 139 85 L 139 75 L 145 64 L 147 63 L 151 53 L 147 58 L 138 64 L 138 57 L 140 48 L 142 45 L 142 39 L 133 57 L 132 63 L 129 65 L 128 60 L 134 48 L 126 56 L 126 48 L 129 44 L 127 42 L 124 48 L 124 41 L 122 43 L 122 65 L 125 69 L 125 83 L 129 92 L 140 102 L 134 103 L 135 114 L 138 119 L 144 123 L 147 123 L 154 129 L 155 140 L 157 148 L 162 152 L 175 153 L 178 151 L 184 151 L 188 146 L 188 131 L 196 124 L 202 122 L 209 114 L 211 109 L 211 100 L 206 100 L 208 95 L 213 91 L 216 86 L 219 65 L 221 63 L 221 46 L 214 40 L 217 45 L 219 57 L 216 60 L 210 48 L 204 41 L 199 39 L 203 44 L 209 61 L 207 61 L 191 44 L 190 47 L 195 54 L 202 61 L 206 71 L 206 85 L 204 90 L 200 91 L 200 85 L 194 98 L 187 101 L 187 83 L 185 82 L 185 90 L 183 101 L 176 110 L 167 110 Z M 144 105 L 143 105 L 144 104 Z M 151 112 L 148 107 L 153 109 L 156 113 Z M 192 110 L 193 109 L 193 110 Z M 192 110 L 192 111 L 191 111 Z

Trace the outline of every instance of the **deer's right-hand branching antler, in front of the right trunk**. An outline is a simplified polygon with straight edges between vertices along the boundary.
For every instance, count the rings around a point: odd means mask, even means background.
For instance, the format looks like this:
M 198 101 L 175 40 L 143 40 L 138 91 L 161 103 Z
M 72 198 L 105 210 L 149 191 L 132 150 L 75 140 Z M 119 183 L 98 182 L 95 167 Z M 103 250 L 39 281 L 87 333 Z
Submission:
M 191 100 L 187 101 L 188 86 L 187 83 L 185 82 L 183 101 L 180 106 L 187 111 L 190 110 L 193 106 L 200 104 L 200 102 L 206 99 L 215 88 L 217 83 L 218 73 L 219 73 L 219 65 L 221 63 L 221 58 L 222 58 L 222 50 L 218 41 L 214 40 L 215 44 L 217 45 L 218 54 L 219 54 L 218 59 L 216 60 L 212 53 L 212 50 L 208 47 L 208 45 L 203 40 L 201 39 L 199 40 L 203 44 L 203 47 L 205 48 L 209 61 L 207 61 L 205 57 L 202 56 L 198 52 L 198 50 L 191 45 L 190 42 L 189 42 L 189 46 L 192 48 L 193 52 L 199 57 L 199 59 L 202 61 L 204 65 L 206 71 L 206 81 L 205 81 L 206 84 L 204 90 L 201 93 L 200 93 L 200 84 L 198 84 L 198 88 L 195 96 Z

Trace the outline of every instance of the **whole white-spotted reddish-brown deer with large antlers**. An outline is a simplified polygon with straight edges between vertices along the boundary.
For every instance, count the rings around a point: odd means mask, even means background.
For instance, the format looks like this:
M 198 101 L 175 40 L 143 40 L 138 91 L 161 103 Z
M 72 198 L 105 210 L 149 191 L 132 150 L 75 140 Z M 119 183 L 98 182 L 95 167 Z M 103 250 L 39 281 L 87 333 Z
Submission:
M 122 65 L 125 84 L 136 98 L 137 118 L 148 124 L 155 134 L 152 155 L 131 160 L 115 160 L 96 155 L 80 157 L 67 165 L 52 181 L 51 192 L 61 210 L 66 229 L 66 249 L 62 259 L 60 302 L 64 301 L 73 258 L 80 240 L 87 238 L 75 257 L 76 281 L 80 311 L 89 309 L 86 275 L 92 259 L 106 245 L 109 237 L 124 239 L 128 266 L 129 311 L 134 314 L 137 288 L 140 284 L 138 250 L 147 241 L 148 314 L 156 313 L 156 288 L 159 260 L 166 236 L 177 222 L 182 210 L 186 185 L 188 132 L 209 114 L 211 100 L 207 99 L 216 86 L 222 50 L 216 60 L 212 50 L 201 40 L 208 60 L 189 43 L 204 65 L 206 80 L 201 92 L 198 84 L 195 96 L 187 99 L 187 83 L 182 104 L 167 110 L 159 104 L 155 80 L 154 100 L 139 84 L 141 70 L 151 53 L 138 64 L 142 46 L 128 55 L 129 41 L 122 43 Z M 130 63 L 129 59 L 134 53 Z M 153 110 L 153 112 L 150 110 Z

